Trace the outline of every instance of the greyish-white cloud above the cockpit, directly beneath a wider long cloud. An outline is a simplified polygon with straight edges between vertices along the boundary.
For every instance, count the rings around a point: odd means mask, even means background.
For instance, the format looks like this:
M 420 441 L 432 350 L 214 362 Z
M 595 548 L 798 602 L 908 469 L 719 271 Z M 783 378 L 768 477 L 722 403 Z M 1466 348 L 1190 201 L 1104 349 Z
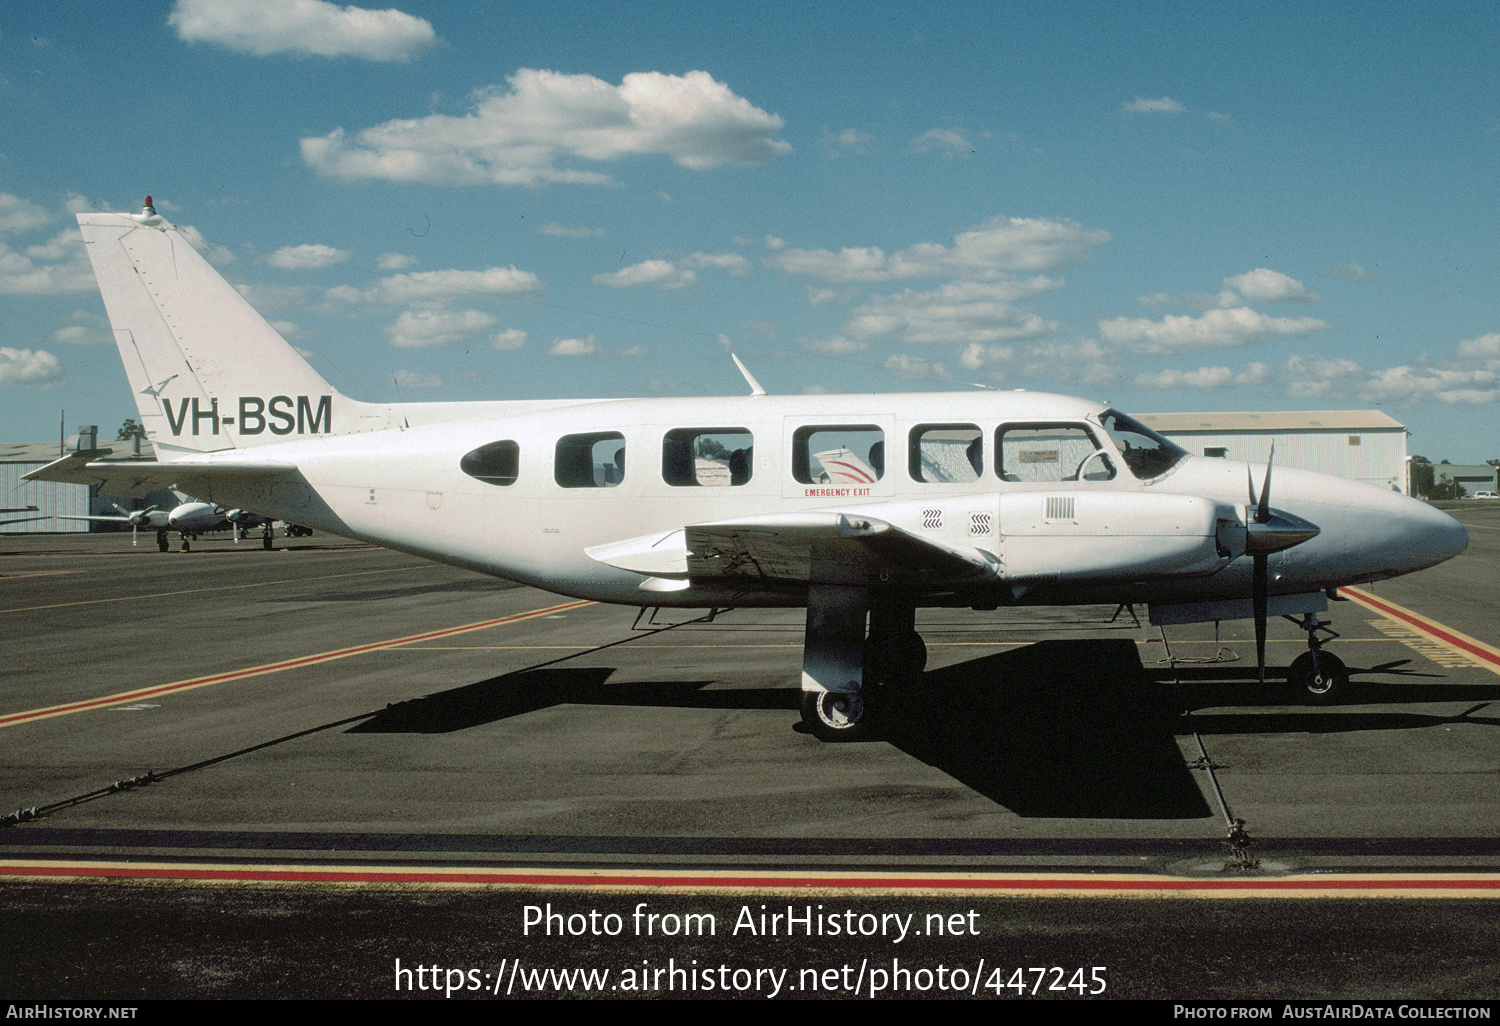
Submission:
M 906 290 L 878 296 L 850 310 L 843 332 L 855 338 L 891 336 L 903 342 L 968 344 L 1034 339 L 1056 332 L 1054 321 L 1010 304 L 1008 282 L 957 282 L 930 292 Z

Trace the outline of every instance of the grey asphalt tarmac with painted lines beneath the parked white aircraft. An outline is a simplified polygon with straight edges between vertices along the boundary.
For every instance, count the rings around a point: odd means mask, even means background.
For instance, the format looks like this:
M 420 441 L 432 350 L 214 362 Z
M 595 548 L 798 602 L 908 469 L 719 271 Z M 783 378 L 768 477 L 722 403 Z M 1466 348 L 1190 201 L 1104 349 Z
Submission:
M 1014 976 L 1046 964 L 1068 999 L 1095 966 L 1102 996 L 1496 998 L 1500 513 L 1460 516 L 1468 552 L 1332 603 L 1332 702 L 1260 686 L 1250 622 L 939 609 L 885 735 L 840 746 L 798 724 L 801 610 L 660 630 L 693 614 L 321 536 L 3 536 L 0 999 L 453 984 L 398 958 L 472 970 L 454 998 L 506 966 L 681 996 L 693 958 L 726 969 L 690 996 L 1047 996 Z M 1272 622 L 1272 668 L 1305 646 Z M 549 902 L 622 928 L 538 936 Z M 642 903 L 717 933 L 642 934 Z M 819 904 L 855 918 L 800 933 Z M 582 966 L 616 975 L 526 987 Z

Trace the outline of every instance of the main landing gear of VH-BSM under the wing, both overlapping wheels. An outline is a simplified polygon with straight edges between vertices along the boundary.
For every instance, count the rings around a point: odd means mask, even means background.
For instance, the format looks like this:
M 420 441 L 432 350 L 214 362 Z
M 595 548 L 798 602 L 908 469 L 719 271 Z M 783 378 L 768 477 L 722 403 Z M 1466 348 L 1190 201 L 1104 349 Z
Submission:
M 872 735 L 890 688 L 927 666 L 927 645 L 915 624 L 914 606 L 872 602 L 867 588 L 808 586 L 801 706 L 813 736 L 861 741 Z

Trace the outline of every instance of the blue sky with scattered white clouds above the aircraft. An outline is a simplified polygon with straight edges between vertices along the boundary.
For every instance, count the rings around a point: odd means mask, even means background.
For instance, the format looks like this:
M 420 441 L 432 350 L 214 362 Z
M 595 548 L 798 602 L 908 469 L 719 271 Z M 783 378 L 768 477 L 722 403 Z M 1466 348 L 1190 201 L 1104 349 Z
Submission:
M 1496 4 L 0 4 L 0 438 L 150 192 L 362 399 L 975 384 L 1500 456 Z

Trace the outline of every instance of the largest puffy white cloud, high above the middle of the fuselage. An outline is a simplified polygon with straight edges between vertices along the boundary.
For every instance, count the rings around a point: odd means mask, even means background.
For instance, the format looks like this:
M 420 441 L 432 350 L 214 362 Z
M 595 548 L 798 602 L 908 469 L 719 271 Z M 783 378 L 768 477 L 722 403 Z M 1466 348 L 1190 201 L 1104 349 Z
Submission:
M 303 159 L 346 182 L 428 184 L 608 184 L 564 160 L 662 154 L 693 171 L 762 164 L 790 152 L 782 118 L 735 96 L 706 72 L 636 72 L 620 86 L 592 75 L 522 68 L 508 87 L 474 94 L 464 116 L 386 122 L 302 140 Z

